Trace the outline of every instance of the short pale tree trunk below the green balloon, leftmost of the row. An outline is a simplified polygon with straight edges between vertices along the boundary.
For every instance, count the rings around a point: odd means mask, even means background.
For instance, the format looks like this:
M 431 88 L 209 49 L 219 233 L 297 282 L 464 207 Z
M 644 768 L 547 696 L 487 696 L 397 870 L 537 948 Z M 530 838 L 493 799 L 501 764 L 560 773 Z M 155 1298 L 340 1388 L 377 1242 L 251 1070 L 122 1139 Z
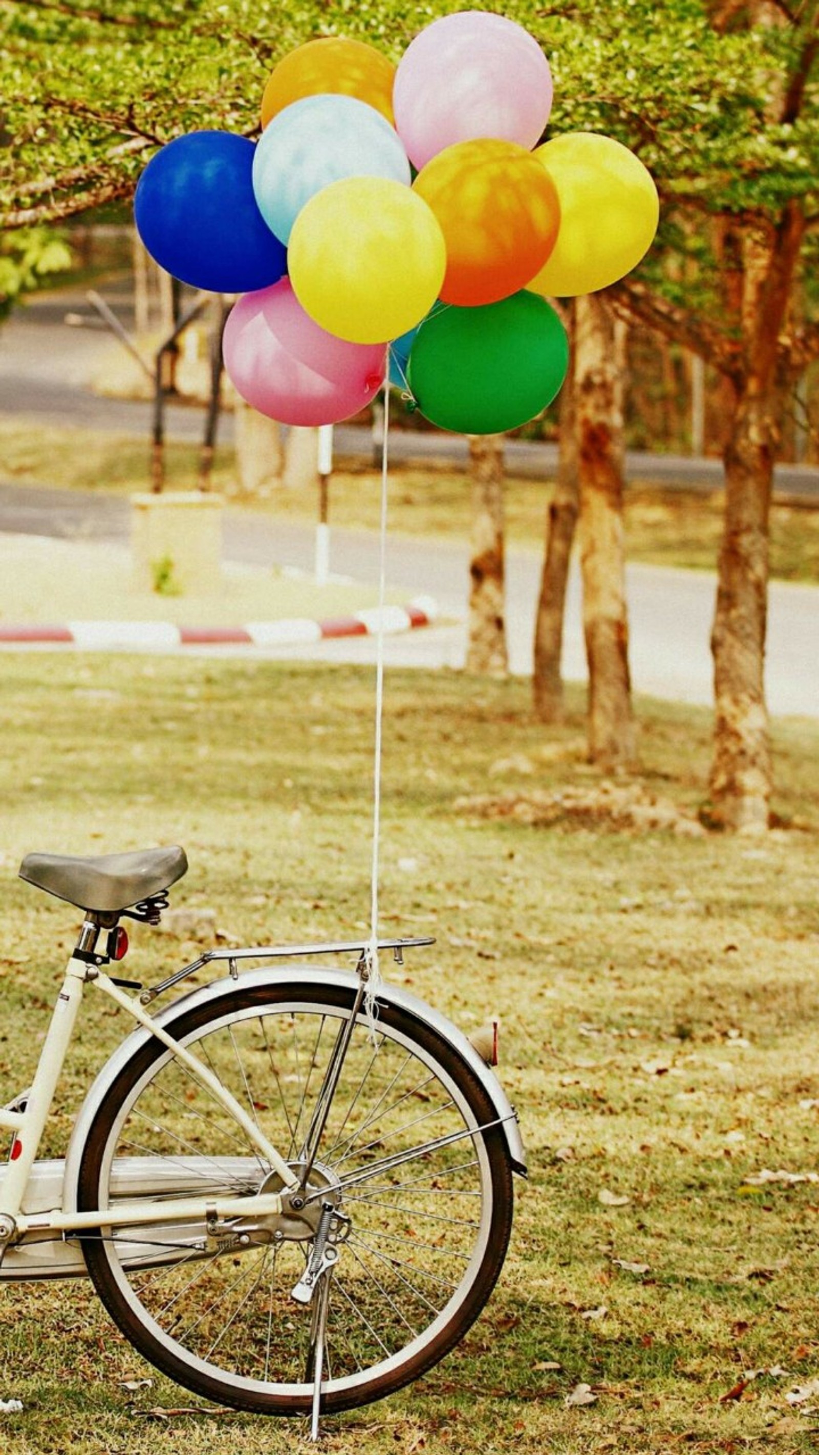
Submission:
M 503 435 L 470 436 L 473 528 L 467 672 L 505 677 Z

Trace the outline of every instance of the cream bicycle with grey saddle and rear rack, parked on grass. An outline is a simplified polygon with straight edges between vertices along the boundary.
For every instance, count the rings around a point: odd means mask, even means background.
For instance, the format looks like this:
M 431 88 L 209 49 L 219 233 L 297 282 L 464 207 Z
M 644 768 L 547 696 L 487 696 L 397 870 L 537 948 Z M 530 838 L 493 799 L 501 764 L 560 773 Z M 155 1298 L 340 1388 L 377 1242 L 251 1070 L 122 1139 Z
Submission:
M 308 1414 L 317 1438 L 320 1413 L 409 1384 L 480 1314 L 525 1173 L 518 1122 L 455 1026 L 371 984 L 367 941 L 212 949 L 151 988 L 108 973 L 128 947 L 121 920 L 159 924 L 186 869 L 177 847 L 23 858 L 20 877 L 83 924 L 33 1084 L 0 1112 L 0 1279 L 87 1275 L 177 1384 Z M 431 943 L 378 952 L 403 963 Z M 339 954 L 355 972 L 300 963 Z M 151 1013 L 208 966 L 227 975 Z M 86 986 L 137 1027 L 65 1157 L 36 1161 Z

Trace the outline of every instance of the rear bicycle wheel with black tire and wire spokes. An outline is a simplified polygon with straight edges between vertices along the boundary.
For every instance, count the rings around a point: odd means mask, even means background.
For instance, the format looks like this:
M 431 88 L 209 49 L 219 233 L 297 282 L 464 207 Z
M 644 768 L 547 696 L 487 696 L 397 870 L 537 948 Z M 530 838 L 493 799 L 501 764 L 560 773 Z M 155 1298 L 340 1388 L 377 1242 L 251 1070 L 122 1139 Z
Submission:
M 295 979 L 237 985 L 215 1002 L 182 1008 L 167 1029 L 253 1109 L 295 1164 L 353 995 L 353 985 Z M 367 1404 L 412 1382 L 480 1314 L 512 1224 L 509 1152 L 502 1129 L 487 1126 L 495 1119 L 486 1088 L 431 1026 L 384 1001 L 372 1037 L 358 1016 L 313 1176 L 351 1218 L 330 1280 L 323 1410 Z M 457 1141 L 431 1147 L 451 1132 Z M 378 1170 L 401 1149 L 416 1149 L 412 1161 Z M 169 1179 L 161 1196 L 170 1211 L 175 1190 L 191 1195 L 191 1177 L 199 1186 L 201 1176 L 204 1190 L 236 1195 L 266 1176 L 246 1133 L 225 1123 L 211 1094 L 156 1039 L 122 1068 L 92 1122 L 80 1211 L 111 1206 L 145 1157 Z M 268 1241 L 241 1250 L 208 1241 L 204 1227 L 189 1224 L 137 1224 L 115 1235 L 103 1225 L 83 1237 L 83 1248 L 108 1312 L 156 1368 L 220 1404 L 300 1414 L 313 1398 L 305 1363 L 313 1315 L 292 1302 L 291 1289 L 313 1241 L 276 1231 L 278 1243 L 266 1225 L 253 1238 Z M 137 1251 L 145 1243 L 147 1251 Z

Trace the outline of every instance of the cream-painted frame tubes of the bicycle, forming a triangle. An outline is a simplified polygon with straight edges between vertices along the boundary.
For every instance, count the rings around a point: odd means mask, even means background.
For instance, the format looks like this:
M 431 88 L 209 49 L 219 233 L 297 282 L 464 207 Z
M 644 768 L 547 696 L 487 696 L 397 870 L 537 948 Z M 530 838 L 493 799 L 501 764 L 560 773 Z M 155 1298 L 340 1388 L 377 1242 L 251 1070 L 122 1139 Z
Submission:
M 89 965 L 71 956 L 65 969 L 63 988 L 54 1007 L 51 1024 L 45 1036 L 45 1043 L 39 1056 L 35 1078 L 26 1094 L 23 1110 L 0 1110 L 0 1128 L 15 1133 L 9 1165 L 0 1181 L 0 1247 L 7 1247 L 12 1240 L 17 1241 L 26 1234 L 71 1234 L 92 1228 L 116 1228 L 138 1222 L 160 1224 L 167 1222 L 169 1209 L 166 1203 L 157 1200 L 153 1206 L 147 1202 L 118 1200 L 115 1208 L 96 1208 L 87 1212 L 65 1212 L 54 1208 L 47 1212 L 23 1212 L 26 1189 L 35 1164 L 42 1133 L 54 1100 L 54 1093 L 60 1081 L 60 1074 L 65 1061 L 65 1053 L 71 1040 L 77 1013 L 87 984 L 97 986 L 111 997 L 122 1010 L 127 1010 L 135 1021 L 144 1026 L 157 1037 L 176 1059 L 185 1065 L 217 1099 L 225 1113 L 231 1116 L 243 1129 L 250 1144 L 256 1148 L 271 1170 L 282 1180 L 287 1189 L 298 1187 L 298 1179 L 292 1168 L 287 1165 L 272 1142 L 268 1141 L 257 1123 L 247 1115 L 244 1107 L 225 1090 L 220 1080 L 202 1065 L 202 1062 L 185 1046 L 179 1045 L 148 1011 L 137 997 L 127 995 L 121 986 L 115 985 L 111 976 L 100 969 L 90 969 Z M 282 1211 L 281 1193 L 256 1193 L 241 1197 L 188 1197 L 175 1199 L 173 1221 L 205 1221 L 234 1216 L 276 1216 Z

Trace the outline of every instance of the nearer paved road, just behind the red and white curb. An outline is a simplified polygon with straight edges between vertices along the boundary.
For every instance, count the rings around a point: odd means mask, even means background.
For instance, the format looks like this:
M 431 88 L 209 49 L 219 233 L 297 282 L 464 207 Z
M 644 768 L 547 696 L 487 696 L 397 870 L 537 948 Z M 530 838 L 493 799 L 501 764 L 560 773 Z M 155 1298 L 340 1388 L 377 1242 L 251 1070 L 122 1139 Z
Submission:
M 64 490 L 0 486 L 0 530 L 124 544 L 129 531 L 127 501 Z M 227 511 L 224 554 L 228 560 L 310 572 L 314 535 L 305 525 L 255 512 Z M 374 535 L 333 530 L 330 567 L 356 581 L 377 581 Z M 387 661 L 403 666 L 452 666 L 464 662 L 464 608 L 468 595 L 466 547 L 391 540 L 387 556 L 390 586 L 435 598 L 455 624 L 425 629 L 387 642 Z M 532 636 L 540 583 L 540 559 L 511 551 L 506 570 L 506 620 L 514 672 L 532 669 Z M 658 566 L 627 569 L 630 662 L 634 688 L 672 701 L 711 703 L 708 634 L 714 576 Z M 573 572 L 566 608 L 563 671 L 572 681 L 586 675 L 580 615 L 580 585 Z M 372 661 L 371 637 L 319 643 L 310 656 L 326 661 Z M 281 647 L 276 656 L 303 656 L 301 647 Z M 772 582 L 768 607 L 767 691 L 771 711 L 819 717 L 819 588 Z

